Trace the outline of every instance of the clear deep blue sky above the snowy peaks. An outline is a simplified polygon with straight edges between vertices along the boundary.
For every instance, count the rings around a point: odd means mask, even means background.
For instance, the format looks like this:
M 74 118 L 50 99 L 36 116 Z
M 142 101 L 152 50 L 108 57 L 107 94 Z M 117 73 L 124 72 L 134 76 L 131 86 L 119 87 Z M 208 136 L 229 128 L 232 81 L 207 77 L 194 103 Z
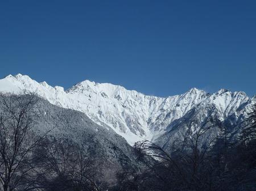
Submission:
M 256 94 L 256 1 L 1 1 L 0 77 Z

